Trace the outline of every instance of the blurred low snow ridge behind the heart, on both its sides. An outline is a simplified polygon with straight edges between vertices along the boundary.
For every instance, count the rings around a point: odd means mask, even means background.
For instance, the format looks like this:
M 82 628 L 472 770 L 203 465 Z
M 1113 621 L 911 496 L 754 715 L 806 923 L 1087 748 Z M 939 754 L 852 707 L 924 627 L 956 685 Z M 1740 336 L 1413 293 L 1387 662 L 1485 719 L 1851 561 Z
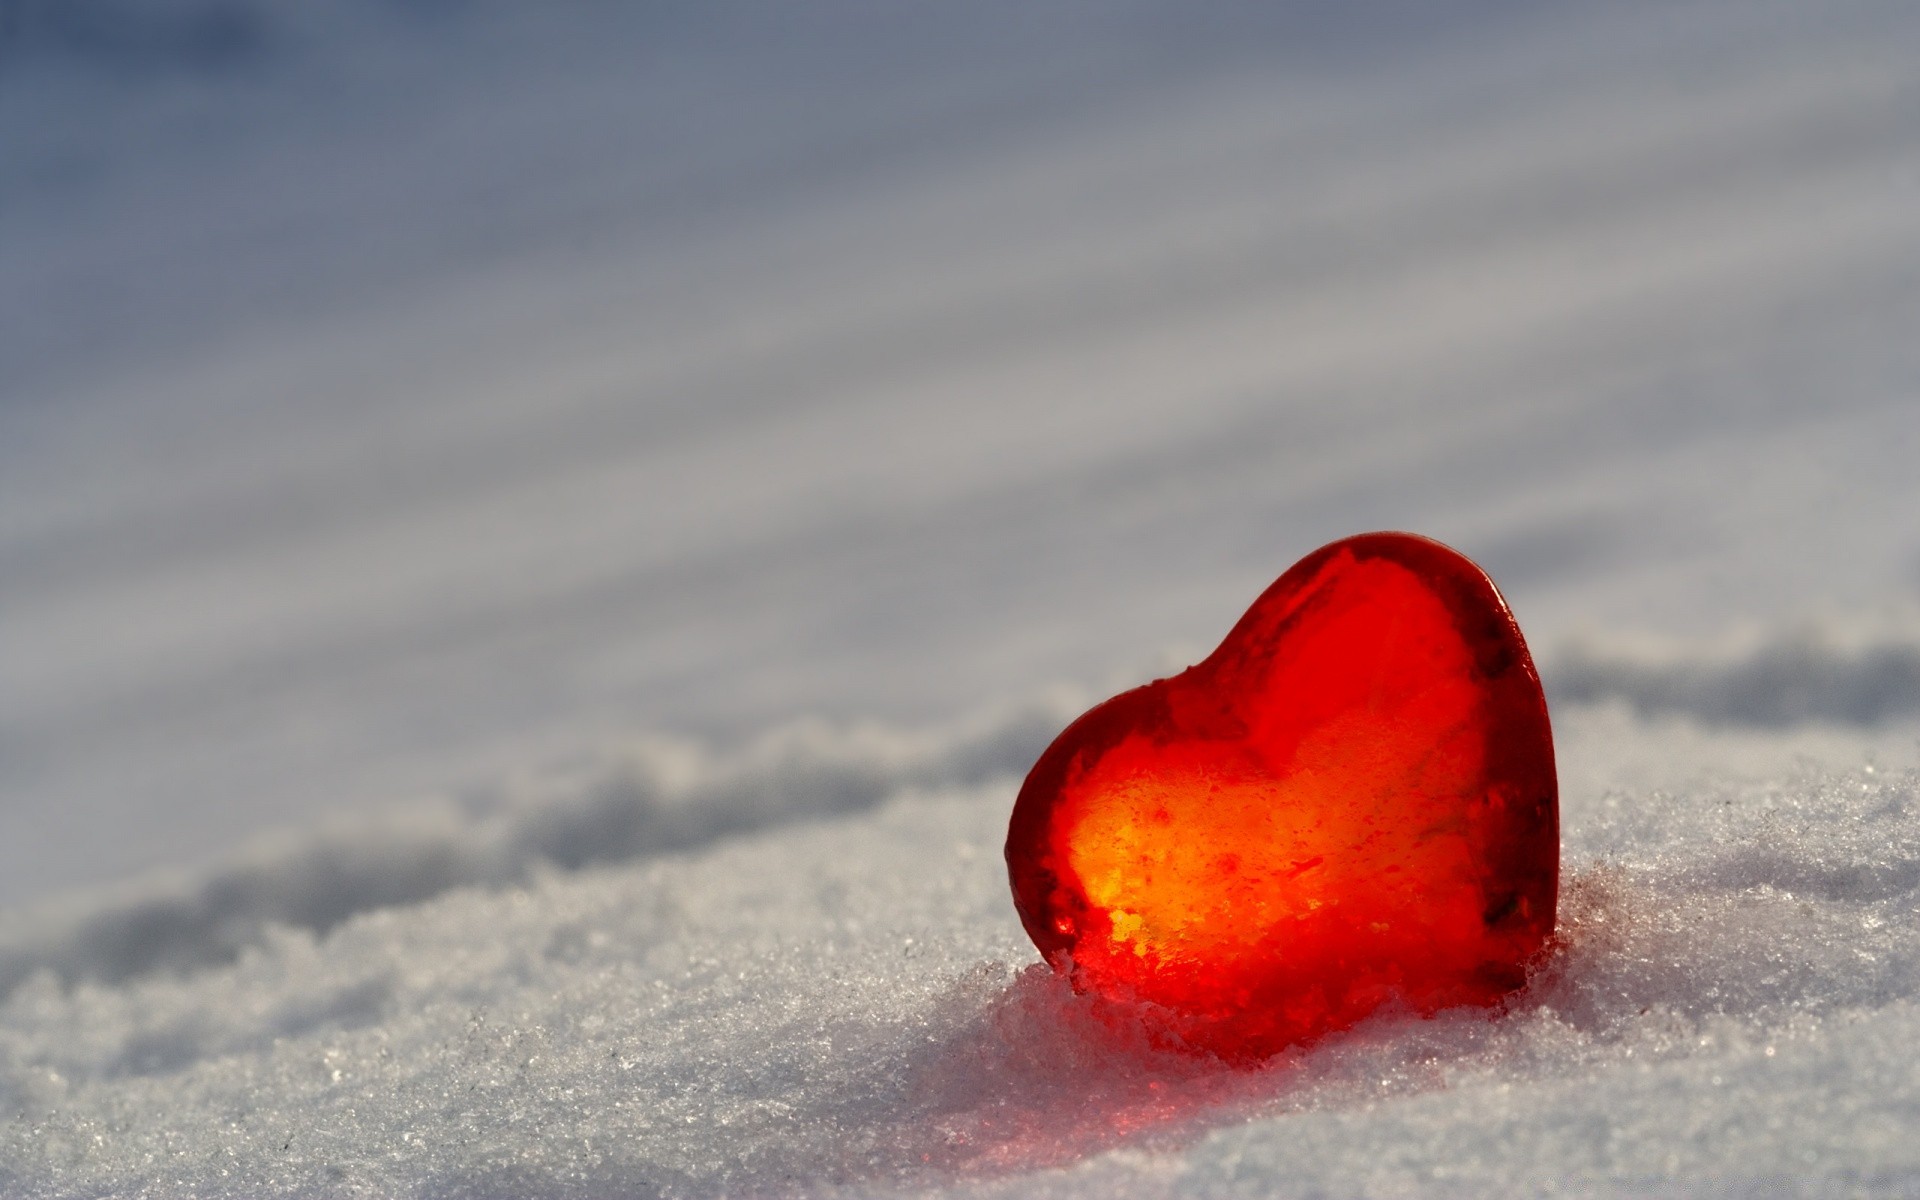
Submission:
M 1716 657 L 1574 643 L 1544 660 L 1555 712 L 1624 703 L 1709 726 L 1884 726 L 1920 712 L 1920 639 L 1789 630 Z M 292 831 L 198 874 L 0 912 L 0 996 L 40 970 L 119 983 L 232 962 L 271 927 L 326 933 L 459 887 L 507 887 L 693 851 L 916 789 L 1021 776 L 1085 697 L 1058 691 L 945 730 L 799 722 L 737 753 L 641 739 L 588 764 L 361 824 Z M 1916 868 L 1920 870 L 1920 868 Z

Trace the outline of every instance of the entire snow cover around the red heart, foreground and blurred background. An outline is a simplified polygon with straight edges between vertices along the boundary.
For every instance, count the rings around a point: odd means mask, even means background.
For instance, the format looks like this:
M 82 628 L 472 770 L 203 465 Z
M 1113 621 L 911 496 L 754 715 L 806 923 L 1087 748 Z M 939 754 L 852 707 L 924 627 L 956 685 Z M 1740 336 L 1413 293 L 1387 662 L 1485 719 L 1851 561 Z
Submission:
M 1920 8 L 0 4 L 0 1196 L 1920 1196 Z M 1540 659 L 1551 960 L 1037 966 L 1315 545 Z

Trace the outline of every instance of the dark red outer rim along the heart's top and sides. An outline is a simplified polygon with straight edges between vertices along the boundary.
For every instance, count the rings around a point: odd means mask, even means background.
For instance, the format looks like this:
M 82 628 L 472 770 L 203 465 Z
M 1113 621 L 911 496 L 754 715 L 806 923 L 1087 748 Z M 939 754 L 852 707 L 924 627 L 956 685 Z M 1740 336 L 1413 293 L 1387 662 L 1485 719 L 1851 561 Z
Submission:
M 1453 614 L 1455 624 L 1459 624 L 1467 636 L 1469 645 L 1486 645 L 1482 660 L 1478 662 L 1480 672 L 1486 676 L 1488 685 L 1494 689 L 1524 689 L 1523 697 L 1528 701 L 1530 716 L 1538 718 L 1538 728 L 1542 732 L 1540 739 L 1505 739 L 1496 741 L 1488 747 L 1492 762 L 1488 774 L 1492 778 L 1521 778 L 1528 772 L 1544 772 L 1549 781 L 1549 791 L 1544 797 L 1536 797 L 1536 804 L 1544 808 L 1540 814 L 1548 826 L 1546 837 L 1549 837 L 1555 856 L 1555 870 L 1546 879 L 1546 895 L 1530 897 L 1540 912 L 1555 914 L 1559 906 L 1559 780 L 1553 764 L 1553 741 L 1551 724 L 1548 718 L 1546 693 L 1540 687 L 1540 674 L 1534 668 L 1534 659 L 1526 649 L 1526 639 L 1521 636 L 1521 626 L 1513 618 L 1513 611 L 1507 607 L 1505 597 L 1494 580 L 1482 570 L 1473 559 L 1455 551 L 1450 545 L 1425 538 L 1421 534 L 1402 534 L 1402 532 L 1377 532 L 1377 534 L 1356 534 L 1352 538 L 1342 538 L 1331 541 L 1308 557 L 1294 563 L 1275 580 L 1265 591 L 1260 593 L 1252 605 L 1248 605 L 1246 614 L 1235 622 L 1233 630 L 1221 639 L 1219 647 L 1212 655 L 1188 666 L 1179 676 L 1160 678 L 1140 687 L 1121 691 L 1119 695 L 1102 701 L 1083 712 L 1073 720 L 1058 737 L 1046 747 L 1041 758 L 1027 772 L 1027 780 L 1020 787 L 1020 795 L 1014 801 L 1014 814 L 1008 822 L 1006 831 L 1006 864 L 1008 876 L 1014 887 L 1014 908 L 1020 912 L 1020 924 L 1025 925 L 1027 935 L 1033 945 L 1039 947 L 1041 956 L 1046 958 L 1056 970 L 1068 970 L 1068 950 L 1071 948 L 1071 937 L 1054 929 L 1046 922 L 1046 914 L 1029 912 L 1021 902 L 1023 895 L 1048 895 L 1060 887 L 1060 874 L 1066 868 L 1052 868 L 1046 862 L 1023 864 L 1016 856 L 1014 849 L 1021 845 L 1041 845 L 1046 833 L 1048 820 L 1048 797 L 1056 795 L 1064 783 L 1068 770 L 1077 755 L 1100 755 L 1131 730 L 1139 728 L 1142 722 L 1160 720 L 1165 714 L 1165 691 L 1171 680 L 1187 678 L 1196 672 L 1204 674 L 1212 670 L 1212 664 L 1219 657 L 1221 649 L 1233 645 L 1244 632 L 1244 626 L 1258 618 L 1271 620 L 1261 614 L 1261 607 L 1267 597 L 1281 595 L 1286 591 L 1296 591 L 1294 605 L 1286 609 L 1279 620 L 1279 630 L 1284 630 L 1300 605 L 1311 597 L 1311 580 L 1323 568 L 1327 568 L 1336 557 L 1352 555 L 1354 559 L 1388 559 L 1400 563 L 1419 574 L 1423 580 L 1434 584 L 1436 595 L 1448 605 Z M 1478 630 L 1473 630 L 1467 622 L 1484 622 Z M 1544 762 L 1532 762 L 1530 758 L 1544 751 Z M 1496 870 L 1501 864 L 1494 864 Z M 1068 895 L 1077 897 L 1079 889 L 1068 889 Z M 1079 914 L 1075 916 L 1075 925 L 1081 924 Z M 1553 927 L 1553 920 L 1546 922 L 1546 927 Z

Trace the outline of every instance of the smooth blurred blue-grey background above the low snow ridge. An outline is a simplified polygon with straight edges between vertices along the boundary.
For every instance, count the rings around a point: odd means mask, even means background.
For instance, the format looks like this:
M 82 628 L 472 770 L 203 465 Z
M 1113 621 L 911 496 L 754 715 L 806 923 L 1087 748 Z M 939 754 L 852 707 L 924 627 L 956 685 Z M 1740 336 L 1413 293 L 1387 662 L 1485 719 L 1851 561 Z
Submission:
M 0 904 L 1369 528 L 1549 687 L 1899 624 L 1916 334 L 1899 0 L 0 0 Z

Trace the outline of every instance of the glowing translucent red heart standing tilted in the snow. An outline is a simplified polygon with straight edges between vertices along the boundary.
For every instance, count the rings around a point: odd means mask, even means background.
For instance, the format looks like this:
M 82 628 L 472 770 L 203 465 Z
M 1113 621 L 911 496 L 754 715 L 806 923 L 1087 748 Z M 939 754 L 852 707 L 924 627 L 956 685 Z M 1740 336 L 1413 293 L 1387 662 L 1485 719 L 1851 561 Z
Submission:
M 1398 1000 L 1521 987 L 1553 931 L 1540 676 L 1494 582 L 1413 534 L 1283 574 L 1198 666 L 1027 774 L 1014 904 L 1073 985 L 1248 1062 Z

